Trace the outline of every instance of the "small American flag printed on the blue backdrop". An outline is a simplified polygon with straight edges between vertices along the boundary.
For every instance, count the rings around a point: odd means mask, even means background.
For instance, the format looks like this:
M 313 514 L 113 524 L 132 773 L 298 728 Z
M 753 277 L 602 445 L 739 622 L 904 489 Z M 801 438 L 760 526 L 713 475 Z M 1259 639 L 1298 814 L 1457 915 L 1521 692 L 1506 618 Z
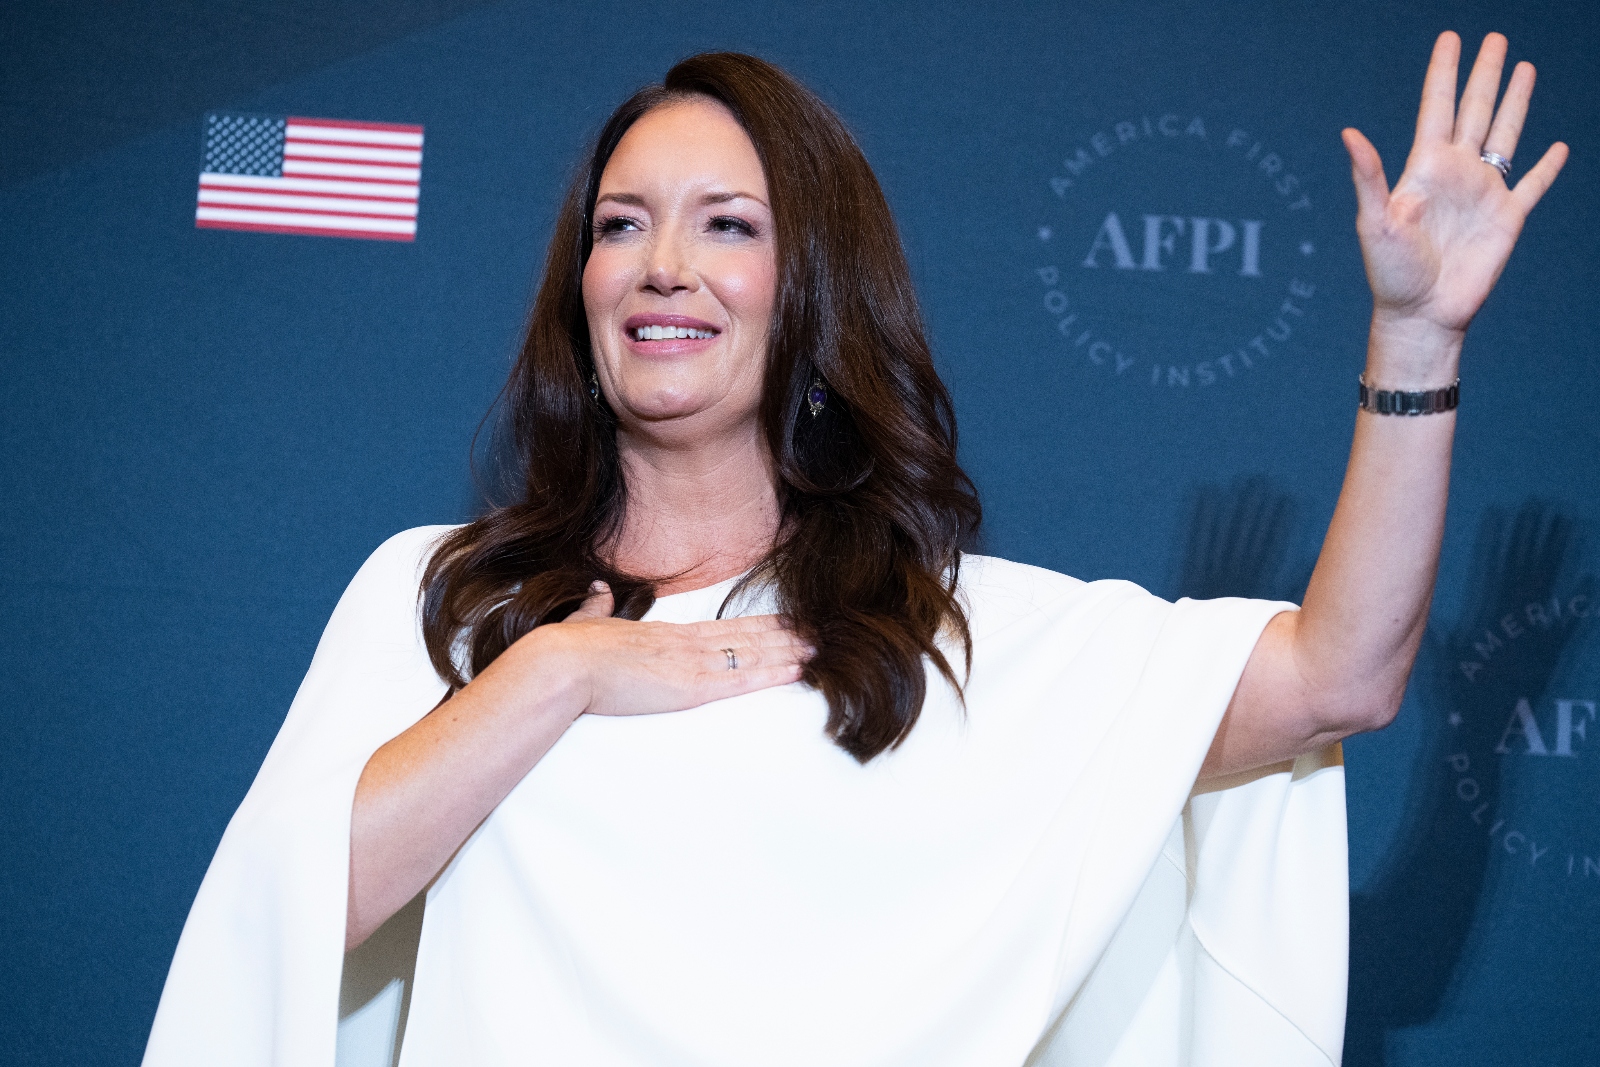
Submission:
M 416 240 L 422 126 L 211 114 L 195 226 Z

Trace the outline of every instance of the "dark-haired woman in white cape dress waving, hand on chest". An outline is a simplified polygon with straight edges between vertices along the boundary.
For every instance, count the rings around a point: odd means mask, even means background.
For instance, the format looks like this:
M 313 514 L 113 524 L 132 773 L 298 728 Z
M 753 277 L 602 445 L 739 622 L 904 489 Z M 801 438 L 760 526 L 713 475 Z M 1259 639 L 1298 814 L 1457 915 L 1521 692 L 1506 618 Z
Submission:
M 1330 745 L 1398 707 L 1462 334 L 1565 160 L 1507 189 L 1533 69 L 1496 110 L 1491 35 L 1458 110 L 1458 53 L 1394 192 L 1344 133 L 1374 315 L 1299 611 L 963 557 L 837 117 L 738 54 L 629 99 L 507 386 L 522 499 L 362 568 L 146 1062 L 331 1062 L 341 949 L 424 888 L 406 1064 L 1336 1061 Z

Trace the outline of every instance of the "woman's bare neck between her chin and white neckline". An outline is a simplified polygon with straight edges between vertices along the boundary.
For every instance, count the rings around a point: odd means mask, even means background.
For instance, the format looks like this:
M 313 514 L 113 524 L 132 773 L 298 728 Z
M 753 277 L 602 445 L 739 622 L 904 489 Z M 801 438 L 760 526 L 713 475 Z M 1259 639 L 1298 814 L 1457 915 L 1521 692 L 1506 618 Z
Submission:
M 618 432 L 627 510 L 611 561 L 666 597 L 750 569 L 778 531 L 778 478 L 757 426 L 691 448 Z

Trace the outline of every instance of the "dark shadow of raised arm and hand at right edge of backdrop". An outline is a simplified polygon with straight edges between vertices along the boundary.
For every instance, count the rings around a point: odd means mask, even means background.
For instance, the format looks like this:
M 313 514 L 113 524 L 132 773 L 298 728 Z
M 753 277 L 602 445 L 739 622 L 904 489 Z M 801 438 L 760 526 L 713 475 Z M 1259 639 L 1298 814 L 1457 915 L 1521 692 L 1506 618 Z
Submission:
M 1499 632 L 1506 613 L 1549 603 L 1574 557 L 1573 520 L 1534 501 L 1510 518 L 1490 512 L 1467 579 L 1475 597 L 1453 625 L 1429 627 L 1411 672 L 1424 718 L 1405 813 L 1379 873 L 1350 896 L 1347 1067 L 1381 1067 L 1389 1032 L 1426 1024 L 1445 1006 L 1490 875 L 1496 801 L 1520 765 L 1494 757 L 1494 745 L 1517 699 L 1549 688 L 1573 630 L 1552 627 L 1514 645 L 1499 633 L 1493 662 L 1474 646 L 1488 646 L 1486 632 Z M 1485 667 L 1469 677 L 1464 661 Z M 1456 792 L 1458 753 L 1470 757 L 1472 803 Z

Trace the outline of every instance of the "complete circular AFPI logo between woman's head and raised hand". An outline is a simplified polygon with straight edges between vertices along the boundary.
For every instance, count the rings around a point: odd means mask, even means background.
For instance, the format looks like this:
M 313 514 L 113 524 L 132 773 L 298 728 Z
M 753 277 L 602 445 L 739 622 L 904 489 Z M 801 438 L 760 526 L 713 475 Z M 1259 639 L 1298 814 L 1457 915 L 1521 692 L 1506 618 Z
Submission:
M 1203 389 L 1304 344 L 1315 210 L 1262 136 L 1192 114 L 1123 118 L 1069 147 L 1048 189 L 1034 278 L 1062 358 Z

